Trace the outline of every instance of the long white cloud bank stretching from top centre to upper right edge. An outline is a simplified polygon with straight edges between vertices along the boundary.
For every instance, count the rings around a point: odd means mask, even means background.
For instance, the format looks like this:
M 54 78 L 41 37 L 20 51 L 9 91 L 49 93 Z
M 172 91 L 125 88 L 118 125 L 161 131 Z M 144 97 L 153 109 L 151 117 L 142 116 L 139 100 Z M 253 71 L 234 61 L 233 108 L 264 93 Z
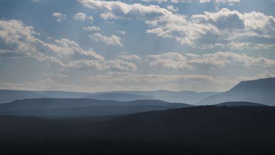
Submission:
M 126 4 L 120 1 L 78 1 L 85 7 L 102 12 L 103 19 L 143 20 L 150 26 L 147 33 L 162 38 L 172 38 L 194 48 L 259 49 L 275 46 L 275 19 L 260 12 L 240 13 L 225 8 L 217 12 L 204 12 L 187 17 L 169 11 L 169 8 L 164 9 L 154 5 Z M 199 2 L 206 3 L 210 0 Z M 214 2 L 239 1 L 215 0 Z M 173 10 L 170 6 L 171 9 Z

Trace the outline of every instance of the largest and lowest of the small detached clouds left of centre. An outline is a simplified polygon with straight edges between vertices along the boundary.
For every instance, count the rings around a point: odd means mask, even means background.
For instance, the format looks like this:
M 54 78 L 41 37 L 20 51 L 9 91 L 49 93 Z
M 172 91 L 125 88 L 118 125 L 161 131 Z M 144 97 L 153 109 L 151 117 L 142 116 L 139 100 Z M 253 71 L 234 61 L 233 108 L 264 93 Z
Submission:
M 101 35 L 100 33 L 95 33 L 89 36 L 92 40 L 99 42 L 105 42 L 107 45 L 118 45 L 123 47 L 123 44 L 121 43 L 121 38 L 116 36 L 116 35 L 112 35 L 110 37 Z

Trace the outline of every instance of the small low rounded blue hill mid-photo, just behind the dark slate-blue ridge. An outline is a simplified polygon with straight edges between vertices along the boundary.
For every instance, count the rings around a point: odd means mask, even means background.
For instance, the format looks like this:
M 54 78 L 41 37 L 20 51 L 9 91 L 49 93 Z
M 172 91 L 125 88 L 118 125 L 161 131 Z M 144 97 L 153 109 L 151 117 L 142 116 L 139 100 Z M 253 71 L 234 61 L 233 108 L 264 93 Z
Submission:
M 117 101 L 155 99 L 151 96 L 133 95 L 133 94 L 126 94 L 126 93 L 102 93 L 102 94 L 85 96 L 83 98 L 92 98 L 92 99 L 99 99 L 99 100 L 117 100 Z

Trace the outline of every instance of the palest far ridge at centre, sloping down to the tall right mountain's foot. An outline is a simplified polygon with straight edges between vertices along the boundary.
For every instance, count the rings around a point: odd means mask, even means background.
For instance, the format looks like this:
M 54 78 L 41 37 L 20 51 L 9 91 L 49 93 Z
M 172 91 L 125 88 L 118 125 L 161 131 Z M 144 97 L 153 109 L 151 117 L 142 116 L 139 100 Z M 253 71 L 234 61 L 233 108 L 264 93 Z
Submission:
M 195 104 L 201 99 L 219 94 L 221 92 L 194 92 L 194 91 L 167 91 L 167 90 L 156 90 L 156 91 L 111 91 L 111 92 L 97 92 L 94 94 L 105 94 L 105 93 L 126 93 L 133 95 L 151 96 L 155 99 L 167 101 L 167 102 L 180 102 L 185 104 Z

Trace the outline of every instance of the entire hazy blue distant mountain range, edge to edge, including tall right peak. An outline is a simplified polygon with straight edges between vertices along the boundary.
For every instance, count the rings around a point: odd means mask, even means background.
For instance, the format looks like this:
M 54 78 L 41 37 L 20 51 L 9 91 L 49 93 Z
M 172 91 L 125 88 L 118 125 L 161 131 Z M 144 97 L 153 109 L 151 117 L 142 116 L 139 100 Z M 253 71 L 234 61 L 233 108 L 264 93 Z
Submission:
M 253 102 L 275 106 L 275 77 L 243 81 L 226 92 L 193 91 L 109 91 L 96 93 L 66 91 L 0 90 L 0 103 L 27 98 L 91 98 L 98 100 L 162 100 L 191 105 L 216 105 L 223 102 Z

